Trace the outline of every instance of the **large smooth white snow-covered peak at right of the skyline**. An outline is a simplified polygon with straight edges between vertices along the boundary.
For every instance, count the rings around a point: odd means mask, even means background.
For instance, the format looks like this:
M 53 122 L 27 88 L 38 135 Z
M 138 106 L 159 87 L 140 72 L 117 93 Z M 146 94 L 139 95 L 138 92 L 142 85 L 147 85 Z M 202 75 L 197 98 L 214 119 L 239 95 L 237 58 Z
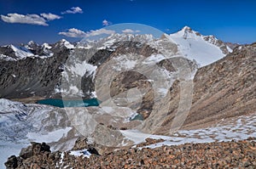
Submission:
M 177 44 L 180 54 L 188 59 L 195 59 L 201 66 L 209 65 L 232 52 L 224 42 L 216 37 L 203 36 L 189 26 L 184 26 L 181 31 L 169 35 L 169 38 Z

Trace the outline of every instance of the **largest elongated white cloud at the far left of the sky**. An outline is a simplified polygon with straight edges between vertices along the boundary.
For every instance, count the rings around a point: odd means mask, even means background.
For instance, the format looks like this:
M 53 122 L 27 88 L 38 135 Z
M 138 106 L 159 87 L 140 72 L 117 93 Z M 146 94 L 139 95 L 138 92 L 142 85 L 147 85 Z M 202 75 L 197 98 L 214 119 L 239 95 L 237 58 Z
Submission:
M 32 24 L 32 25 L 48 25 L 46 20 L 38 14 L 1 14 L 1 19 L 8 23 Z

